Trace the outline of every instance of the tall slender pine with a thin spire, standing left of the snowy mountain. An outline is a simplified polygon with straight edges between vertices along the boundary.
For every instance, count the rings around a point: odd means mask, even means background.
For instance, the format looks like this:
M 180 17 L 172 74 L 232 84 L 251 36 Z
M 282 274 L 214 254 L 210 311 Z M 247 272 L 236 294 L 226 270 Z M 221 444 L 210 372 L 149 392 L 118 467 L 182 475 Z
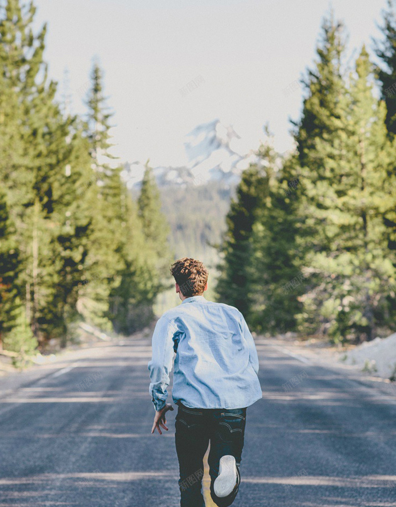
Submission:
M 121 242 L 121 181 L 120 168 L 114 167 L 110 153 L 109 123 L 113 116 L 103 94 L 103 72 L 95 62 L 91 71 L 91 89 L 85 104 L 88 107 L 85 136 L 91 158 L 91 177 L 85 185 L 82 199 L 91 208 L 91 247 L 84 264 L 78 308 L 83 317 L 102 329 L 112 329 L 109 320 L 109 298 L 117 284 L 117 272 L 122 266 L 119 254 Z

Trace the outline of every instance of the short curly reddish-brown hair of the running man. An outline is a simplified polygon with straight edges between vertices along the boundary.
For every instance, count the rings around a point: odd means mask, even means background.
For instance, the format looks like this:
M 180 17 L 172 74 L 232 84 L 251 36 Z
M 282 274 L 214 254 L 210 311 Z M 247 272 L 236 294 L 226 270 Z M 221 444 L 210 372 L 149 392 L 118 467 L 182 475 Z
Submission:
M 183 257 L 172 264 L 171 274 L 185 298 L 202 296 L 204 293 L 209 272 L 201 261 Z

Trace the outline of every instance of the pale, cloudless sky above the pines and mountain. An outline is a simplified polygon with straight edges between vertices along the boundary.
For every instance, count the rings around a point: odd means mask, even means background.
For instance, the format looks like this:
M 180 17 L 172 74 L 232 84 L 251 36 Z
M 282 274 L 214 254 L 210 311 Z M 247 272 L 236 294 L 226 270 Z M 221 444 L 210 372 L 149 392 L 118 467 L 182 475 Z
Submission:
M 45 59 L 62 91 L 69 69 L 73 112 L 96 55 L 115 115 L 120 161 L 184 165 L 184 136 L 216 118 L 248 150 L 269 122 L 280 152 L 292 147 L 300 88 L 283 90 L 312 67 L 321 19 L 333 5 L 349 33 L 348 55 L 379 37 L 385 0 L 36 0 L 48 22 Z M 194 89 L 184 88 L 199 78 Z M 184 93 L 180 92 L 184 88 Z

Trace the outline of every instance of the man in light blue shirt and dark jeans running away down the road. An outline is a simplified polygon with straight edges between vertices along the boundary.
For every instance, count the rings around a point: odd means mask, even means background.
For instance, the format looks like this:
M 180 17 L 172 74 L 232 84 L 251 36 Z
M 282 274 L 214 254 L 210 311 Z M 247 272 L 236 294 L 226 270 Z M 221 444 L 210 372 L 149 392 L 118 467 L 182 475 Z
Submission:
M 258 357 L 242 313 L 234 306 L 204 298 L 208 270 L 184 257 L 171 266 L 181 304 L 157 321 L 152 337 L 150 395 L 155 429 L 168 431 L 166 403 L 175 356 L 172 397 L 179 460 L 181 507 L 205 507 L 203 458 L 209 451 L 210 493 L 219 507 L 237 496 L 244 444 L 246 408 L 262 398 Z

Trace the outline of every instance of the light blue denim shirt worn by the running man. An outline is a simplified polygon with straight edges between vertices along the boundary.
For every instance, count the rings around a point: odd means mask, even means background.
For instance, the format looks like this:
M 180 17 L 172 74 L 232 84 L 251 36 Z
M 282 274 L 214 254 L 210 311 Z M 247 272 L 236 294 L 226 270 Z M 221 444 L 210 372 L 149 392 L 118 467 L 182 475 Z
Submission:
M 174 403 L 236 409 L 261 399 L 257 350 L 242 313 L 234 306 L 192 296 L 158 319 L 148 364 L 156 410 L 167 400 L 174 352 Z

